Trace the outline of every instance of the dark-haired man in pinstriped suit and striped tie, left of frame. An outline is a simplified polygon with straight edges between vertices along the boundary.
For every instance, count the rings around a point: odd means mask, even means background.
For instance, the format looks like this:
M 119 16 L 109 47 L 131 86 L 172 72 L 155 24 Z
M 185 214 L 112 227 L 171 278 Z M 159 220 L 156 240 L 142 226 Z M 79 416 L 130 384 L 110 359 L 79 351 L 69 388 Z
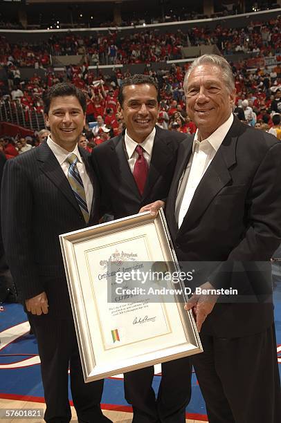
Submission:
M 86 99 L 72 84 L 51 87 L 44 99 L 48 140 L 9 160 L 3 174 L 3 243 L 18 294 L 38 341 L 46 422 L 79 422 L 102 415 L 103 381 L 84 383 L 59 235 L 98 222 L 98 183 L 89 155 L 78 149 Z

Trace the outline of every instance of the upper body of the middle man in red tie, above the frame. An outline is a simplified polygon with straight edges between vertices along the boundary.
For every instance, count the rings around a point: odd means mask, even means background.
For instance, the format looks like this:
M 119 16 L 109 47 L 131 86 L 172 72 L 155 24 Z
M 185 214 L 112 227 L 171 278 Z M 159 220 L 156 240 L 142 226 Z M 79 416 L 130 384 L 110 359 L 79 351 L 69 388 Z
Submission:
M 176 151 L 186 138 L 183 133 L 166 131 L 156 125 L 159 97 L 152 77 L 134 75 L 125 79 L 118 100 L 126 129 L 92 152 L 105 211 L 110 209 L 115 219 L 136 214 L 143 205 L 167 196 Z M 147 162 L 147 175 L 141 189 L 134 177 L 138 146 L 143 147 Z

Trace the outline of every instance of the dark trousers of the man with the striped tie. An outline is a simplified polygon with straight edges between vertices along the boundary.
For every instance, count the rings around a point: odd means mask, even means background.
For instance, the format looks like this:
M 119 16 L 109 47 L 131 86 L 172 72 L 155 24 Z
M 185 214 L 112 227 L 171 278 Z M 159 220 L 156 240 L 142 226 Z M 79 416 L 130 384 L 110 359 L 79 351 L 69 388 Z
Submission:
M 84 383 L 72 317 L 54 319 L 48 314 L 42 316 L 29 314 L 29 316 L 35 328 L 41 360 L 46 400 L 44 420 L 52 423 L 68 423 L 71 420 L 68 390 L 68 370 L 70 368 L 71 393 L 78 421 L 111 422 L 102 415 L 100 410 L 103 379 Z

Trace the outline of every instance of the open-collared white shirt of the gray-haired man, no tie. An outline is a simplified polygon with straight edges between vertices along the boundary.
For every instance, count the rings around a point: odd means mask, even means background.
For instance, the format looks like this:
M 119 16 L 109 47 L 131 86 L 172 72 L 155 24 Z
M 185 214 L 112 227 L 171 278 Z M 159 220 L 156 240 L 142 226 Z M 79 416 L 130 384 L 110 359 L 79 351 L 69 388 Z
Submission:
M 188 212 L 199 182 L 208 169 L 210 162 L 215 157 L 232 124 L 233 114 L 231 113 L 224 124 L 219 126 L 206 140 L 202 141 L 199 141 L 199 131 L 197 129 L 194 136 L 192 154 L 179 182 L 178 194 L 176 196 L 175 216 L 179 227 L 181 227 L 183 218 Z

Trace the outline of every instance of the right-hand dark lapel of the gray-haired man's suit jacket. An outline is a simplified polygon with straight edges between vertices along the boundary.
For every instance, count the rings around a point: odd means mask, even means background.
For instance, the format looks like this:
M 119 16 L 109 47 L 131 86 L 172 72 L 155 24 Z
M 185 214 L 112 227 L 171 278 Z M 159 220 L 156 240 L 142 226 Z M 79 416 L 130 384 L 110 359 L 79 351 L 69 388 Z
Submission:
M 206 173 L 199 182 L 190 207 L 179 229 L 179 235 L 196 224 L 212 199 L 231 180 L 229 168 L 236 163 L 237 121 L 226 134 Z

